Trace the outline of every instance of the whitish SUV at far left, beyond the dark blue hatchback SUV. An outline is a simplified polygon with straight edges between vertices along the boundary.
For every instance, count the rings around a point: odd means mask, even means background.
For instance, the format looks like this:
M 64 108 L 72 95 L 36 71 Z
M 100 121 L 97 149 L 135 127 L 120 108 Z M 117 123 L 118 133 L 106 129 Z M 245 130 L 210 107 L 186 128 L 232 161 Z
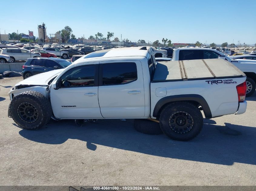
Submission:
M 1 54 L 6 54 L 10 56 L 10 62 L 14 62 L 15 60 L 27 60 L 28 58 L 36 58 L 41 57 L 40 53 L 31 53 L 26 49 L 17 49 L 17 48 L 6 48 L 1 51 Z M 31 57 L 30 57 L 31 54 Z

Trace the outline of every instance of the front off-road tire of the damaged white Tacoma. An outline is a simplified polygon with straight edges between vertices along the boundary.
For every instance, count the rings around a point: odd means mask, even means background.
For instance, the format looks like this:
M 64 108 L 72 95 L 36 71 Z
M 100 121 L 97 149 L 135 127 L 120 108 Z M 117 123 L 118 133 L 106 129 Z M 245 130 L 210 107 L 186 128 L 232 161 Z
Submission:
M 37 119 L 34 119 L 35 122 L 27 122 L 24 120 L 24 114 L 21 116 L 20 108 L 24 103 L 30 103 L 35 107 L 35 112 L 38 113 Z M 22 129 L 35 130 L 39 129 L 45 124 L 47 124 L 52 116 L 52 107 L 45 96 L 36 91 L 25 91 L 21 94 L 15 96 L 10 103 L 10 111 L 12 119 L 20 126 Z

